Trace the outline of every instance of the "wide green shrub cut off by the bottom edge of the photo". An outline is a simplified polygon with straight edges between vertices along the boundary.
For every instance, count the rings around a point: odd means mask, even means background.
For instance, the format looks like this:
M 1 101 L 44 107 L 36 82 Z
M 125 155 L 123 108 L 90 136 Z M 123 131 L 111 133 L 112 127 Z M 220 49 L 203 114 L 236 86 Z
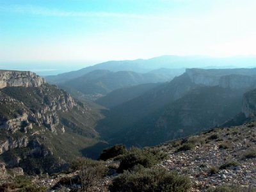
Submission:
M 163 168 L 137 168 L 132 172 L 125 171 L 113 179 L 109 191 L 189 191 L 190 188 L 188 177 L 168 172 Z

